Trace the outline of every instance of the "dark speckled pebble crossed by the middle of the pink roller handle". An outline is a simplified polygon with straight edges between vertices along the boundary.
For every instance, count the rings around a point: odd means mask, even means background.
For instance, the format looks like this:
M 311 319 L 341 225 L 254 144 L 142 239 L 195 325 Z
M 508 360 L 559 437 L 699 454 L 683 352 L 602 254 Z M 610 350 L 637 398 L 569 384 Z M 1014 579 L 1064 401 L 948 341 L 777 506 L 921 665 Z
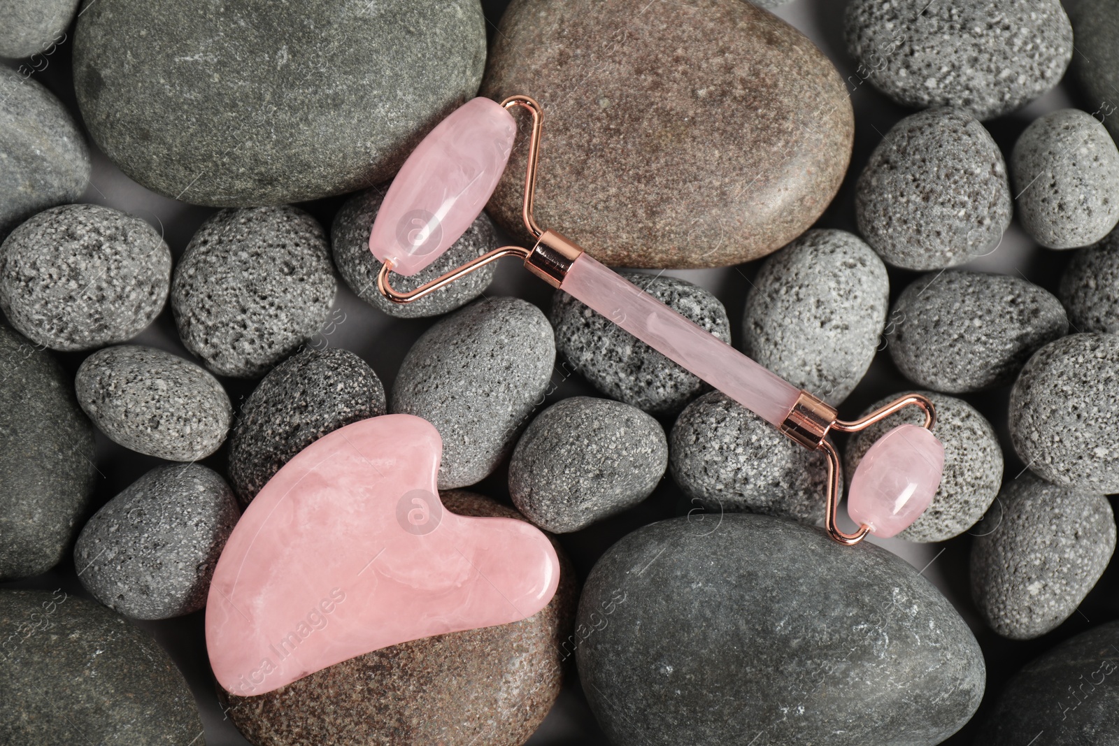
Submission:
M 638 287 L 724 342 L 731 321 L 718 299 L 676 277 L 622 272 Z M 606 396 L 655 415 L 676 414 L 708 388 L 699 378 L 580 301 L 556 291 L 552 302 L 556 348 L 574 371 Z

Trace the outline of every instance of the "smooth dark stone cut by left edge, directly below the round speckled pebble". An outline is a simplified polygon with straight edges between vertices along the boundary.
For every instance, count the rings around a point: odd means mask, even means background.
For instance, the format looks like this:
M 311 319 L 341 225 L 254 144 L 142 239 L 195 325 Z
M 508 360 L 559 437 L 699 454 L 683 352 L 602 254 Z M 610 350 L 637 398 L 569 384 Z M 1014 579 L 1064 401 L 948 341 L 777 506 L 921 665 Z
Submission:
M 54 356 L 0 324 L 0 580 L 46 573 L 93 493 L 93 427 Z

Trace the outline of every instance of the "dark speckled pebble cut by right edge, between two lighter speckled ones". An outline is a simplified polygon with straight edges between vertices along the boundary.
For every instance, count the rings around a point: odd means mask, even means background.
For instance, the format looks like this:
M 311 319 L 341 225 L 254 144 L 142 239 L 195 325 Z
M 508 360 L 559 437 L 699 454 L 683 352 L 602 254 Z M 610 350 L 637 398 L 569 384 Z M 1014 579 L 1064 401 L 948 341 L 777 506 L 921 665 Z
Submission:
M 1073 253 L 1057 295 L 1076 331 L 1119 332 L 1119 233 Z

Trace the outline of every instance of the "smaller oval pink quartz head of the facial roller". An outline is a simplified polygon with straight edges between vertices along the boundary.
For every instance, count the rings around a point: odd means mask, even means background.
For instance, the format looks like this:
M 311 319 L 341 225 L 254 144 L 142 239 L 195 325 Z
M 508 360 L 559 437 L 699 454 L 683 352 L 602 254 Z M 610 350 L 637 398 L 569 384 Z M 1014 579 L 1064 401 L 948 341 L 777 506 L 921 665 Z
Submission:
M 847 513 L 883 538 L 904 530 L 932 502 L 944 446 L 918 425 L 899 425 L 869 447 L 850 480 Z

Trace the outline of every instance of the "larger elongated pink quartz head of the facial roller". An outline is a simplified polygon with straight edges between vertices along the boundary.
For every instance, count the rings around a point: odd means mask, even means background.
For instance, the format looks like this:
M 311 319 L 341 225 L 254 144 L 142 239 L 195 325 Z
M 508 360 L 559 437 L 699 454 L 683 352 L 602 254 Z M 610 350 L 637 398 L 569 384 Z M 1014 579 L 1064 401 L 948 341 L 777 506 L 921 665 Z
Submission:
M 440 122 L 388 188 L 369 234 L 373 255 L 402 275 L 434 262 L 486 207 L 516 134 L 513 115 L 489 98 Z

